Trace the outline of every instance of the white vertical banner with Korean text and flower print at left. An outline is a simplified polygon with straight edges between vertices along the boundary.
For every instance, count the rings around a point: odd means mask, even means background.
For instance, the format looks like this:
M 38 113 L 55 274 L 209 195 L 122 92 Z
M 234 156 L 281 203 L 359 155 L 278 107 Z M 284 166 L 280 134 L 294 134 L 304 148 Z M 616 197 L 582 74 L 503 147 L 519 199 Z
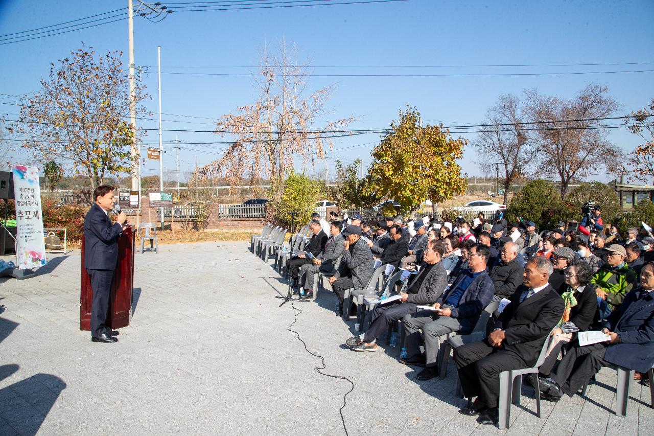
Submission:
M 46 259 L 39 168 L 13 165 L 11 170 L 16 199 L 16 263 L 22 270 L 43 266 Z

